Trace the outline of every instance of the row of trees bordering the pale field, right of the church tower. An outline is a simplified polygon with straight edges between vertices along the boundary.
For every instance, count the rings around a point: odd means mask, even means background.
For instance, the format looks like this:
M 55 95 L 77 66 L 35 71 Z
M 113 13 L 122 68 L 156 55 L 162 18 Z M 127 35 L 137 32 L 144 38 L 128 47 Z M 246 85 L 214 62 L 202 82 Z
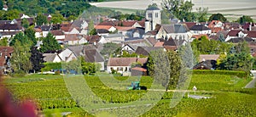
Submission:
M 156 5 L 156 4 L 155 4 Z M 212 14 L 207 19 L 208 8 L 197 8 L 196 12 L 192 12 L 194 7 L 194 3 L 191 1 L 181 1 L 181 0 L 162 0 L 162 8 L 164 11 L 164 15 L 168 13 L 168 18 L 182 21 L 198 21 L 198 22 L 206 22 L 212 20 L 220 20 L 222 22 L 226 22 L 227 19 L 223 14 Z M 240 24 L 244 24 L 246 22 L 253 22 L 252 18 L 246 15 L 241 16 L 236 22 Z

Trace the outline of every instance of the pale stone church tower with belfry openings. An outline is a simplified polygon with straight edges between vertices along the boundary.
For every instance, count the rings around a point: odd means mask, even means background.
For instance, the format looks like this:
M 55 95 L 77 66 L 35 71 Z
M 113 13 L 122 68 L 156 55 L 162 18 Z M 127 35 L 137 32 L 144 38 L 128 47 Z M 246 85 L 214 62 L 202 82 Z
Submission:
M 146 9 L 145 32 L 153 31 L 157 24 L 161 24 L 160 8 L 151 6 Z

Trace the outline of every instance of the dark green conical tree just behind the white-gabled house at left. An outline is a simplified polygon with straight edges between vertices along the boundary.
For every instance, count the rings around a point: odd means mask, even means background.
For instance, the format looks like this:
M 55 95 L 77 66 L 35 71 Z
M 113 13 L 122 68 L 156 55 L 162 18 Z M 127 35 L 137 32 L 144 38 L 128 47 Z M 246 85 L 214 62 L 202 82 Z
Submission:
M 57 51 L 61 49 L 61 45 L 57 42 L 55 37 L 48 33 L 46 37 L 43 38 L 43 45 L 41 45 L 40 51 L 46 53 L 49 51 Z

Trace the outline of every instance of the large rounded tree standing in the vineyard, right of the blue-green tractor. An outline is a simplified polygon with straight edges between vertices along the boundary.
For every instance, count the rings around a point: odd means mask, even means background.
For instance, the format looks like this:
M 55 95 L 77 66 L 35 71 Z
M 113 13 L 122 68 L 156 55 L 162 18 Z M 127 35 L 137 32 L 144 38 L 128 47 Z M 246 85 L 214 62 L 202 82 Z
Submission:
M 150 52 L 147 67 L 149 75 L 165 86 L 167 91 L 177 86 L 183 65 L 176 52 L 159 49 Z

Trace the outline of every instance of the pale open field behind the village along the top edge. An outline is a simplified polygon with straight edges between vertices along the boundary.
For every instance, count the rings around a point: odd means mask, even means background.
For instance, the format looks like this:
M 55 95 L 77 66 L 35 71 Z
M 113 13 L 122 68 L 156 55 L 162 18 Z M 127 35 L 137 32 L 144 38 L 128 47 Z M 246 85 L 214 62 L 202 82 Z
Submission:
M 130 0 L 130 1 L 111 1 L 102 3 L 91 3 L 97 7 L 102 8 L 113 8 L 116 11 L 123 12 L 124 14 L 133 13 L 134 9 L 145 10 L 149 4 L 157 3 L 161 6 L 161 0 Z M 209 14 L 229 14 L 228 20 L 233 21 L 234 19 L 241 17 L 241 15 L 249 15 L 256 20 L 256 3 L 253 0 L 193 0 L 192 3 L 195 4 L 194 11 L 196 8 L 208 8 Z M 161 7 L 160 7 L 161 8 Z M 130 10 L 129 10 L 130 9 Z M 131 11 L 131 12 L 130 12 Z

